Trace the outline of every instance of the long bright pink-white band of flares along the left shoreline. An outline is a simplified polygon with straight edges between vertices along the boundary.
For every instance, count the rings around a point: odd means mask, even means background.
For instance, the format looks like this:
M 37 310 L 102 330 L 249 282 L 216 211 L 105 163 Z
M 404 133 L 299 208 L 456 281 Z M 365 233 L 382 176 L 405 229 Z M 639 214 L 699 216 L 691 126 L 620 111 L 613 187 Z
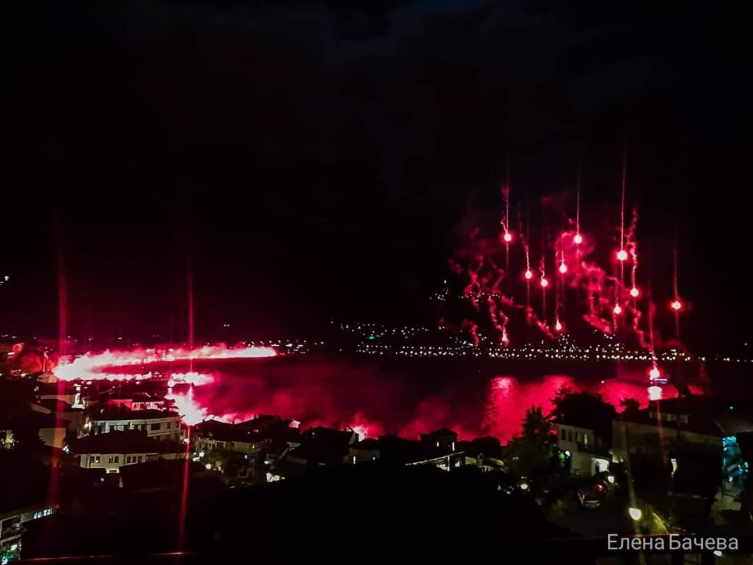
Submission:
M 271 347 L 239 347 L 230 348 L 224 346 L 197 347 L 193 350 L 168 349 L 168 350 L 135 350 L 135 351 L 105 351 L 103 353 L 87 353 L 68 364 L 58 365 L 53 369 L 53 374 L 60 380 L 129 380 L 150 378 L 151 373 L 113 373 L 106 371 L 111 367 L 127 367 L 149 365 L 158 362 L 193 361 L 194 359 L 252 359 L 255 357 L 272 357 L 276 351 Z M 172 378 L 185 380 L 199 377 L 191 377 L 197 373 L 172 374 Z M 204 376 L 206 377 L 206 376 Z M 211 377 L 209 377 L 211 378 Z

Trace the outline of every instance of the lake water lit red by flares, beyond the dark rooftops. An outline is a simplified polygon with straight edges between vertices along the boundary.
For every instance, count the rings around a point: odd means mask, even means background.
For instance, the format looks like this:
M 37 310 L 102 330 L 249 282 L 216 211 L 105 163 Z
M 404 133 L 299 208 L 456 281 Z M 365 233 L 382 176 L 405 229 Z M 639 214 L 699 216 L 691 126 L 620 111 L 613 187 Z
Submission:
M 385 368 L 365 362 L 309 356 L 265 358 L 265 352 L 252 353 L 257 359 L 234 358 L 224 351 L 200 358 L 194 363 L 195 372 L 167 373 L 172 377 L 168 398 L 175 402 L 185 423 L 192 426 L 210 418 L 231 423 L 259 414 L 279 414 L 306 427 L 349 427 L 361 438 L 385 433 L 416 438 L 447 426 L 462 439 L 492 435 L 508 441 L 520 432 L 528 408 L 551 410 L 551 400 L 562 386 L 598 392 L 618 411 L 623 399 L 636 399 L 642 407 L 649 400 L 645 369 L 625 378 L 583 383 L 565 375 L 520 378 L 484 374 L 466 365 Z M 126 359 L 134 359 L 112 353 L 97 359 L 111 360 L 112 355 L 123 365 Z M 136 357 L 141 365 L 132 365 L 133 371 L 155 370 L 158 364 L 169 362 L 164 356 L 154 361 Z M 77 374 L 84 367 L 89 371 L 84 374 L 98 377 L 113 374 L 108 372 L 111 365 L 99 372 L 103 369 L 96 366 L 93 356 L 81 359 L 85 362 L 77 359 L 62 367 L 75 367 Z M 145 366 L 150 363 L 155 365 Z M 672 386 L 661 393 L 664 399 L 677 394 Z

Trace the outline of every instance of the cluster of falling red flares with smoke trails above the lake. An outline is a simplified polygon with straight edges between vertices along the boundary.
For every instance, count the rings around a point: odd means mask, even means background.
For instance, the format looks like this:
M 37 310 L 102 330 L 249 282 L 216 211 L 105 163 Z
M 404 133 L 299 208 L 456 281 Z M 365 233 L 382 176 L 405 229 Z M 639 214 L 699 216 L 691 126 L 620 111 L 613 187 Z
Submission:
M 524 253 L 520 262 L 522 263 L 523 258 L 525 259 L 525 270 L 521 268 L 522 264 L 520 267 L 514 265 L 513 268 L 520 269 L 517 273 L 522 273 L 522 276 L 509 276 L 510 270 L 507 265 L 511 261 L 511 255 L 508 253 L 510 249 L 507 245 L 508 238 L 505 237 L 510 228 L 508 192 L 505 191 L 505 212 L 501 227 L 498 228 L 500 231 L 495 234 L 495 237 L 481 237 L 480 228 L 474 228 L 469 232 L 468 244 L 453 255 L 450 265 L 457 274 L 465 278 L 463 297 L 473 306 L 476 313 L 485 316 L 484 326 L 496 334 L 495 339 L 490 343 L 507 344 L 514 337 L 510 334 L 511 328 L 516 323 L 511 321 L 514 310 L 525 312 L 526 322 L 530 327 L 538 328 L 549 337 L 556 337 L 556 334 L 562 334 L 568 325 L 565 320 L 567 307 L 571 316 L 575 316 L 574 312 L 580 310 L 577 315 L 593 328 L 606 334 L 614 334 L 619 329 L 620 341 L 634 341 L 639 347 L 648 349 L 645 329 L 642 327 L 644 316 L 641 309 L 647 307 L 649 301 L 642 299 L 642 290 L 638 286 L 639 246 L 636 237 L 638 213 L 635 207 L 630 225 L 625 225 L 626 154 L 627 151 L 623 157 L 620 194 L 620 241 L 619 247 L 612 255 L 616 261 L 611 261 L 611 270 L 605 269 L 596 261 L 594 256 L 596 238 L 587 236 L 581 231 L 583 226 L 580 218 L 580 168 L 575 221 L 567 222 L 569 224 L 567 229 L 566 222 L 563 221 L 559 234 L 549 239 L 546 235 L 547 214 L 544 213 L 544 224 L 541 227 L 542 252 L 541 258 L 538 258 L 538 269 L 532 269 L 530 240 L 527 237 L 530 225 L 528 224 L 526 229 L 523 229 L 519 211 L 520 229 L 517 232 L 523 244 Z M 542 199 L 542 205 L 549 206 L 554 201 L 556 200 L 545 197 Z M 546 212 L 545 208 L 544 212 Z M 548 252 L 553 252 L 553 268 L 555 269 L 553 278 L 547 277 L 545 261 Z M 498 267 L 503 257 L 505 269 Z M 512 257 L 512 260 L 514 261 L 515 257 Z M 627 278 L 625 267 L 630 268 Z M 506 284 L 502 284 L 503 279 Z M 519 287 L 521 295 L 523 290 L 526 292 L 524 306 L 516 304 L 514 300 L 516 294 L 514 285 L 521 282 L 525 283 L 525 289 Z M 538 308 L 532 307 L 530 295 L 532 282 L 538 282 L 538 286 L 541 287 L 541 313 L 536 311 Z M 547 291 L 552 284 L 554 285 L 553 312 L 548 313 L 551 319 L 547 320 Z M 505 287 L 505 292 L 501 291 L 501 287 Z M 566 305 L 572 301 L 578 301 L 578 307 L 570 310 L 570 307 Z M 675 314 L 683 307 L 676 292 L 676 284 L 675 299 L 670 306 L 672 310 L 675 310 Z M 480 325 L 477 322 L 480 320 L 463 322 L 463 326 L 471 330 L 476 344 L 480 341 Z

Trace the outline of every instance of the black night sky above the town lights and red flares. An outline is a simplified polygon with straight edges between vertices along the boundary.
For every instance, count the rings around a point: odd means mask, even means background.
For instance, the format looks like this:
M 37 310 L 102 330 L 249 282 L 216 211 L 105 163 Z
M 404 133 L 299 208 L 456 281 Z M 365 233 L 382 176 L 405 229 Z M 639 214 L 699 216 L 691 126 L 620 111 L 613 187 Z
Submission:
M 56 331 L 58 258 L 72 332 L 181 334 L 189 256 L 200 335 L 422 319 L 508 153 L 535 207 L 582 143 L 584 218 L 616 224 L 627 133 L 654 292 L 677 222 L 689 339 L 742 341 L 749 14 L 647 6 L 4 6 L 0 331 Z

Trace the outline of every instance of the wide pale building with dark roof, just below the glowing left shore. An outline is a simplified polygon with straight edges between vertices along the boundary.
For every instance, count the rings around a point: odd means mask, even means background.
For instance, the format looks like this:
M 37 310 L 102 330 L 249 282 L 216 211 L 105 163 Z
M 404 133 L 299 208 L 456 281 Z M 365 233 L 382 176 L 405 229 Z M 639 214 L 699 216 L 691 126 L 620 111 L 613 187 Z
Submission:
M 84 435 L 137 430 L 148 438 L 183 441 L 185 430 L 180 414 L 160 410 L 131 411 L 122 408 L 99 408 L 87 417 Z

